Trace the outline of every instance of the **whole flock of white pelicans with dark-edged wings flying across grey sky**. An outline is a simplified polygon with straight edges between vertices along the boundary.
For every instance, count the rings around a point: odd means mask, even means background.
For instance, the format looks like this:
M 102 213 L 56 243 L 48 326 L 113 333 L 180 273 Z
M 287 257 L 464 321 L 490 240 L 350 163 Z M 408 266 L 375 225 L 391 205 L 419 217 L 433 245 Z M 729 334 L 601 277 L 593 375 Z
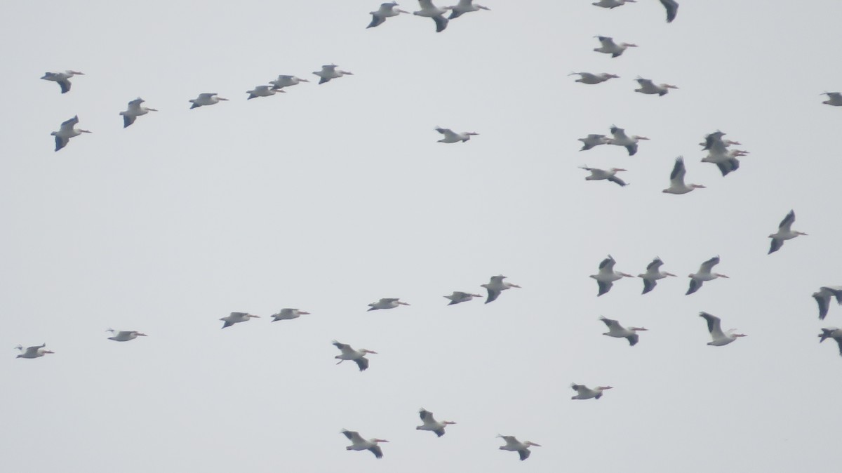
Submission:
M 667 22 L 672 22 L 675 19 L 676 13 L 678 11 L 678 3 L 674 2 L 674 0 L 659 1 L 663 4 L 663 7 L 666 8 Z M 635 2 L 636 0 L 600 0 L 599 2 L 595 2 L 593 4 L 602 8 L 616 8 L 623 6 L 626 3 Z M 416 12 L 413 12 L 413 14 L 416 16 L 433 19 L 437 32 L 443 31 L 447 27 L 451 19 L 456 19 L 462 14 L 489 9 L 487 7 L 483 7 L 481 5 L 472 3 L 472 0 L 460 0 L 456 6 L 445 8 L 435 7 L 431 0 L 418 0 L 418 3 L 420 4 L 421 9 Z M 448 12 L 450 12 L 450 15 L 445 17 L 445 15 Z M 371 23 L 368 25 L 367 28 L 374 28 L 380 26 L 386 21 L 386 19 L 395 17 L 400 13 L 409 12 L 397 8 L 397 3 L 382 3 L 380 8 L 378 8 L 375 12 L 370 13 L 372 19 Z M 597 36 L 596 38 L 600 41 L 600 47 L 595 48 L 594 50 L 600 53 L 610 54 L 612 57 L 621 56 L 627 48 L 637 47 L 637 45 L 634 45 L 632 43 L 616 43 L 613 40 L 613 38 L 610 38 L 608 36 Z M 322 69 L 320 71 L 313 72 L 313 74 L 319 77 L 318 83 L 320 84 L 329 82 L 330 80 L 338 77 L 353 75 L 351 72 L 342 71 L 338 69 L 337 66 L 334 64 L 322 66 Z M 53 81 L 58 83 L 59 87 L 61 88 L 61 93 L 67 93 L 71 89 L 70 78 L 81 75 L 83 75 L 83 72 L 67 70 L 64 72 L 47 72 L 45 73 L 44 77 L 41 78 L 47 81 Z M 578 76 L 576 82 L 581 82 L 589 85 L 599 84 L 601 82 L 606 82 L 611 78 L 618 77 L 615 74 L 610 73 L 591 72 L 573 72 L 571 75 Z M 638 93 L 663 96 L 669 93 L 670 89 L 677 89 L 677 87 L 675 87 L 674 85 L 667 83 L 658 84 L 650 79 L 645 79 L 642 77 L 638 77 L 636 80 L 640 85 L 640 88 L 636 89 L 636 92 Z M 268 85 L 258 85 L 252 90 L 249 90 L 247 92 L 248 99 L 258 97 L 269 97 L 276 93 L 285 93 L 285 90 L 283 90 L 284 88 L 297 85 L 301 82 L 308 81 L 306 79 L 302 79 L 296 76 L 280 75 L 274 81 L 270 81 Z M 842 93 L 833 92 L 824 94 L 828 96 L 828 100 L 824 101 L 823 104 L 829 104 L 832 106 L 842 106 Z M 190 109 L 218 104 L 220 101 L 224 100 L 227 99 L 221 98 L 216 93 L 200 93 L 200 95 L 197 98 L 189 100 L 191 104 Z M 157 109 L 151 109 L 143 106 L 143 103 L 144 100 L 142 98 L 136 98 L 129 102 L 128 108 L 125 109 L 125 111 L 120 112 L 120 115 L 123 117 L 124 128 L 135 123 L 137 117 L 145 115 L 149 112 L 157 111 Z M 79 136 L 82 133 L 90 133 L 90 131 L 88 130 L 77 129 L 76 125 L 78 124 L 78 121 L 78 117 L 74 116 L 72 119 L 62 123 L 61 128 L 58 131 L 52 132 L 51 135 L 56 137 L 56 151 L 67 146 L 68 141 L 72 137 Z M 443 136 L 443 138 L 439 140 L 443 143 L 465 142 L 470 140 L 471 136 L 477 135 L 477 133 L 474 132 L 455 132 L 453 130 L 440 127 L 436 127 L 435 130 L 437 130 Z M 633 156 L 635 153 L 637 153 L 638 142 L 648 140 L 646 136 L 628 136 L 626 135 L 625 130 L 613 125 L 610 128 L 610 135 L 611 137 L 593 134 L 585 138 L 580 138 L 579 141 L 582 141 L 584 144 L 584 146 L 581 148 L 581 151 L 592 149 L 595 146 L 615 145 L 625 147 L 626 151 L 628 151 L 629 156 Z M 740 143 L 738 141 L 724 140 L 723 136 L 725 136 L 725 133 L 719 130 L 706 136 L 705 141 L 700 145 L 703 146 L 702 151 L 708 152 L 706 157 L 702 158 L 701 161 L 716 164 L 719 170 L 721 171 L 722 176 L 726 176 L 728 173 L 733 173 L 739 168 L 738 157 L 742 157 L 748 154 L 748 151 L 729 149 L 729 146 L 739 145 Z M 620 186 L 626 186 L 626 182 L 623 181 L 621 178 L 617 177 L 617 173 L 626 171 L 626 169 L 618 167 L 612 167 L 610 169 L 600 169 L 596 167 L 582 168 L 590 172 L 590 175 L 585 178 L 587 180 L 607 180 L 609 182 L 616 183 Z M 685 174 L 686 168 L 684 158 L 677 157 L 675 159 L 672 172 L 669 174 L 669 187 L 663 189 L 663 192 L 667 194 L 687 194 L 695 189 L 705 188 L 705 186 L 701 184 L 685 183 Z M 807 235 L 806 233 L 803 233 L 801 231 L 793 231 L 791 229 L 792 223 L 794 221 L 795 212 L 791 210 L 786 215 L 786 217 L 784 217 L 783 221 L 781 221 L 781 224 L 778 226 L 778 231 L 769 236 L 771 238 L 769 253 L 780 250 L 783 243 L 787 240 L 791 240 L 798 236 Z M 704 263 L 701 263 L 699 270 L 696 273 L 689 275 L 690 284 L 685 294 L 690 295 L 700 290 L 702 284 L 706 281 L 711 281 L 713 279 L 718 278 L 727 278 L 725 274 L 718 274 L 712 272 L 713 267 L 716 266 L 719 262 L 720 259 L 717 256 L 708 259 Z M 590 276 L 597 282 L 599 289 L 597 296 L 605 295 L 605 293 L 609 292 L 616 281 L 623 278 L 633 277 L 632 274 L 626 274 L 616 271 L 614 269 L 615 264 L 615 259 L 609 255 L 608 258 L 605 258 L 600 263 L 599 272 Z M 675 276 L 675 274 L 661 271 L 662 266 L 663 261 L 660 258 L 655 258 L 652 263 L 649 263 L 647 265 L 646 271 L 644 273 L 637 275 L 637 277 L 641 278 L 643 281 L 642 294 L 647 294 L 648 292 L 652 291 L 658 284 L 659 279 Z M 482 287 L 484 287 L 488 293 L 487 298 L 485 300 L 486 304 L 493 302 L 493 300 L 496 300 L 504 290 L 520 287 L 517 284 L 505 282 L 504 279 L 505 276 L 503 275 L 493 276 L 488 282 L 488 284 L 482 284 Z M 461 291 L 454 291 L 451 295 L 445 295 L 445 298 L 450 300 L 448 305 L 461 304 L 463 302 L 467 302 L 479 297 L 482 297 L 482 295 Z M 819 319 L 823 320 L 829 311 L 830 301 L 832 299 L 835 299 L 839 305 L 842 305 L 842 286 L 823 286 L 813 294 L 813 298 L 818 303 Z M 397 298 L 384 298 L 369 304 L 368 310 L 375 311 L 394 309 L 399 306 L 408 306 L 408 304 L 406 302 L 402 302 Z M 307 314 L 309 314 L 309 312 L 301 311 L 299 309 L 285 308 L 280 310 L 278 313 L 272 315 L 272 322 L 292 320 L 298 318 L 299 316 Z M 708 345 L 723 346 L 727 345 L 728 343 L 733 343 L 733 341 L 735 341 L 738 337 L 745 337 L 745 334 L 735 333 L 733 329 L 722 331 L 721 321 L 717 316 L 713 316 L 706 312 L 701 312 L 699 315 L 705 319 L 707 330 L 708 332 L 710 332 L 711 335 L 711 342 L 708 343 Z M 232 327 L 234 324 L 237 323 L 247 322 L 252 318 L 259 318 L 259 316 L 249 314 L 248 312 L 232 312 L 230 315 L 222 317 L 220 320 L 224 322 L 222 328 L 226 328 Z M 639 336 L 637 332 L 647 330 L 643 327 L 623 327 L 620 324 L 620 322 L 605 317 L 600 317 L 600 320 L 604 322 L 605 325 L 608 327 L 608 332 L 605 332 L 604 335 L 609 337 L 626 338 L 626 340 L 631 346 L 636 345 L 639 341 Z M 142 332 L 115 331 L 110 328 L 107 332 L 111 334 L 111 337 L 108 338 L 110 340 L 114 340 L 115 342 L 128 342 L 136 339 L 137 337 L 147 336 L 145 333 Z M 839 344 L 839 353 L 840 355 L 842 355 L 842 329 L 835 327 L 826 327 L 822 329 L 822 333 L 820 333 L 818 337 L 819 342 L 823 342 L 824 340 L 829 338 L 835 340 L 836 343 Z M 366 358 L 366 355 L 377 353 L 366 348 L 354 349 L 347 343 L 339 343 L 335 340 L 333 341 L 333 345 L 336 348 L 338 348 L 340 352 L 340 354 L 334 357 L 335 359 L 339 360 L 338 364 L 341 364 L 346 360 L 353 361 L 355 364 L 357 364 L 360 371 L 365 371 L 365 369 L 369 368 L 369 359 Z M 53 353 L 51 350 L 48 350 L 45 347 L 45 343 L 29 348 L 24 348 L 23 346 L 19 345 L 18 347 L 16 347 L 20 351 L 18 358 L 35 359 L 40 358 L 47 353 Z M 600 399 L 600 397 L 603 396 L 603 392 L 605 390 L 611 389 L 611 386 L 596 386 L 594 388 L 589 388 L 588 386 L 578 384 L 573 384 L 571 385 L 571 387 L 573 388 L 573 391 L 576 391 L 577 393 L 576 396 L 572 397 L 572 399 L 576 400 L 592 398 Z M 437 421 L 433 417 L 433 413 L 425 410 L 424 408 L 420 410 L 420 417 L 422 425 L 418 426 L 417 429 L 431 431 L 435 433 L 438 437 L 441 437 L 445 434 L 445 427 L 447 425 L 454 423 L 450 421 Z M 379 444 L 388 442 L 388 440 L 382 438 L 366 439 L 363 438 L 360 435 L 360 433 L 349 430 L 342 430 L 342 433 L 351 442 L 351 444 L 348 447 L 346 447 L 347 449 L 369 450 L 378 459 L 383 456 L 383 452 Z M 526 460 L 527 458 L 529 458 L 530 447 L 541 446 L 540 444 L 536 444 L 530 441 L 521 442 L 514 436 L 510 435 L 498 435 L 498 437 L 503 438 L 505 442 L 505 445 L 501 446 L 500 449 L 518 452 L 518 454 L 520 455 L 520 460 Z

